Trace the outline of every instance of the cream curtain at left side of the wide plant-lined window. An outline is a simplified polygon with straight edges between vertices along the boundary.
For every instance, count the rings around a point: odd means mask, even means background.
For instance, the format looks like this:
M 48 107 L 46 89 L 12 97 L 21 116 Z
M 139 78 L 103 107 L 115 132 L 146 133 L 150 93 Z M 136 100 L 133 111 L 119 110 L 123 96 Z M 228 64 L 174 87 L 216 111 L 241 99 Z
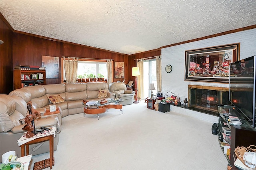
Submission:
M 70 57 L 68 60 L 64 58 L 64 70 L 66 75 L 66 83 L 76 83 L 76 76 L 77 76 L 77 67 L 78 67 L 78 58 L 72 57 L 70 60 Z

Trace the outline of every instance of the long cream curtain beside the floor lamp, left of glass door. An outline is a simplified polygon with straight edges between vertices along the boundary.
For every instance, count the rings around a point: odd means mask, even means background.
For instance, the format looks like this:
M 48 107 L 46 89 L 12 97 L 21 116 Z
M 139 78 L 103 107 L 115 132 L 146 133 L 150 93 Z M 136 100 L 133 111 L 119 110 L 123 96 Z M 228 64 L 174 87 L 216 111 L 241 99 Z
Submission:
M 137 59 L 137 67 L 140 69 L 140 75 L 137 76 L 137 97 L 139 100 L 144 99 L 144 81 L 143 81 L 143 58 Z

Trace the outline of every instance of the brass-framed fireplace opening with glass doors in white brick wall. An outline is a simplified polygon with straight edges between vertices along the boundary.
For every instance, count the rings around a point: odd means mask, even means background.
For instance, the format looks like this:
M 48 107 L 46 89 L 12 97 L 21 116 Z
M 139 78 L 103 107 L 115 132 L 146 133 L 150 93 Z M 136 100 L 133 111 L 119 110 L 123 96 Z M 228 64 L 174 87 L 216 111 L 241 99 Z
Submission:
M 230 105 L 228 88 L 188 85 L 188 108 L 218 116 L 218 105 Z

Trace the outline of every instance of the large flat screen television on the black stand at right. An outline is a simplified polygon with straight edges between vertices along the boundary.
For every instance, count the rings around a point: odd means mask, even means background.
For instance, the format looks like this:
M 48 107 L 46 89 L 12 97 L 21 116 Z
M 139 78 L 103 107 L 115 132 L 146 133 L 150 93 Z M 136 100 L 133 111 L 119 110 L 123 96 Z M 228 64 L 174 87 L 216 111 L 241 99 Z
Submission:
M 229 66 L 229 101 L 255 128 L 256 56 L 230 63 Z

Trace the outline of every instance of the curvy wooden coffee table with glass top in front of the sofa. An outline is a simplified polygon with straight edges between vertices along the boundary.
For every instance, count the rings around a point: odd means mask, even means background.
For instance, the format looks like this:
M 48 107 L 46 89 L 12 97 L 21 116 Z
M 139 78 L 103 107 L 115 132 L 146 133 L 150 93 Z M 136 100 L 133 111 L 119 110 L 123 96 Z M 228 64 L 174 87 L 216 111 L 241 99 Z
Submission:
M 90 106 L 82 103 L 83 105 L 86 106 L 84 107 L 84 115 L 86 114 L 97 115 L 99 120 L 100 119 L 99 114 L 105 113 L 106 111 L 108 111 L 108 109 L 120 109 L 121 113 L 123 114 L 123 111 L 122 111 L 123 105 L 120 104 L 120 102 L 122 101 L 123 100 L 112 99 L 105 104 L 100 104 L 100 101 L 99 101 L 98 103 Z

